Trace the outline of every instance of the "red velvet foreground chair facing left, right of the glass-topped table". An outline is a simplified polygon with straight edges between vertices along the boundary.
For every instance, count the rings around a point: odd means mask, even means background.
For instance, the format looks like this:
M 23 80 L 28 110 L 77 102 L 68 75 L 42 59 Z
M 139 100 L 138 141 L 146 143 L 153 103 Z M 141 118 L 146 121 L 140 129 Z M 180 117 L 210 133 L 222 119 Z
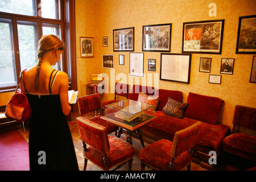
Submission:
M 139 151 L 141 169 L 145 166 L 160 171 L 179 171 L 187 166 L 191 169 L 192 157 L 189 154 L 191 148 L 196 144 L 201 122 L 175 133 L 174 142 L 161 139 Z

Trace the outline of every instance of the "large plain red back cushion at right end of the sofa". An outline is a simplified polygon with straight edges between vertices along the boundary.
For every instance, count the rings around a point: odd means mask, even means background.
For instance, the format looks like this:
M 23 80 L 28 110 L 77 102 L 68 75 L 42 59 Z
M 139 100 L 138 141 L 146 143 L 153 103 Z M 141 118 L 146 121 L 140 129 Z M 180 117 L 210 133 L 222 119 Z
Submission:
M 185 117 L 216 125 L 223 101 L 217 97 L 189 93 Z

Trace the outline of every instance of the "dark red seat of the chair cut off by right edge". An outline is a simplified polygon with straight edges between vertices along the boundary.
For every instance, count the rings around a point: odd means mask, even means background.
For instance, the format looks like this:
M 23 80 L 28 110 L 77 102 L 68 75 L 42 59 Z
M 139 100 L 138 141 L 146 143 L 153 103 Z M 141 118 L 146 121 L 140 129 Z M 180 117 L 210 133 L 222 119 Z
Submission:
M 232 154 L 256 161 L 256 137 L 234 133 L 224 138 L 223 148 Z

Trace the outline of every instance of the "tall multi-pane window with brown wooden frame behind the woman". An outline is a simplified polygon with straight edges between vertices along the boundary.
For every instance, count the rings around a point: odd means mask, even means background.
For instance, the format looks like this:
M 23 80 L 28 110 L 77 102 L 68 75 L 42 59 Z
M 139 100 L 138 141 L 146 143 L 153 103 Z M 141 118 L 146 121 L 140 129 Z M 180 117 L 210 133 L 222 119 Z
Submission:
M 37 63 L 38 40 L 49 34 L 66 46 L 54 68 L 71 78 L 69 6 L 69 0 L 0 1 L 0 91 L 15 88 L 20 71 Z

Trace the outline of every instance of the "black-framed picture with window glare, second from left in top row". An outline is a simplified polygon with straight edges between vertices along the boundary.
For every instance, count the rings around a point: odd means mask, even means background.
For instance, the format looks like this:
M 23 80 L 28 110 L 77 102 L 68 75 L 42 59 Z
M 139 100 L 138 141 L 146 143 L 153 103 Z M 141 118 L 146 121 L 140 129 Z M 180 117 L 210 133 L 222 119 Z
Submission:
M 146 25 L 142 28 L 142 51 L 170 52 L 171 23 Z

